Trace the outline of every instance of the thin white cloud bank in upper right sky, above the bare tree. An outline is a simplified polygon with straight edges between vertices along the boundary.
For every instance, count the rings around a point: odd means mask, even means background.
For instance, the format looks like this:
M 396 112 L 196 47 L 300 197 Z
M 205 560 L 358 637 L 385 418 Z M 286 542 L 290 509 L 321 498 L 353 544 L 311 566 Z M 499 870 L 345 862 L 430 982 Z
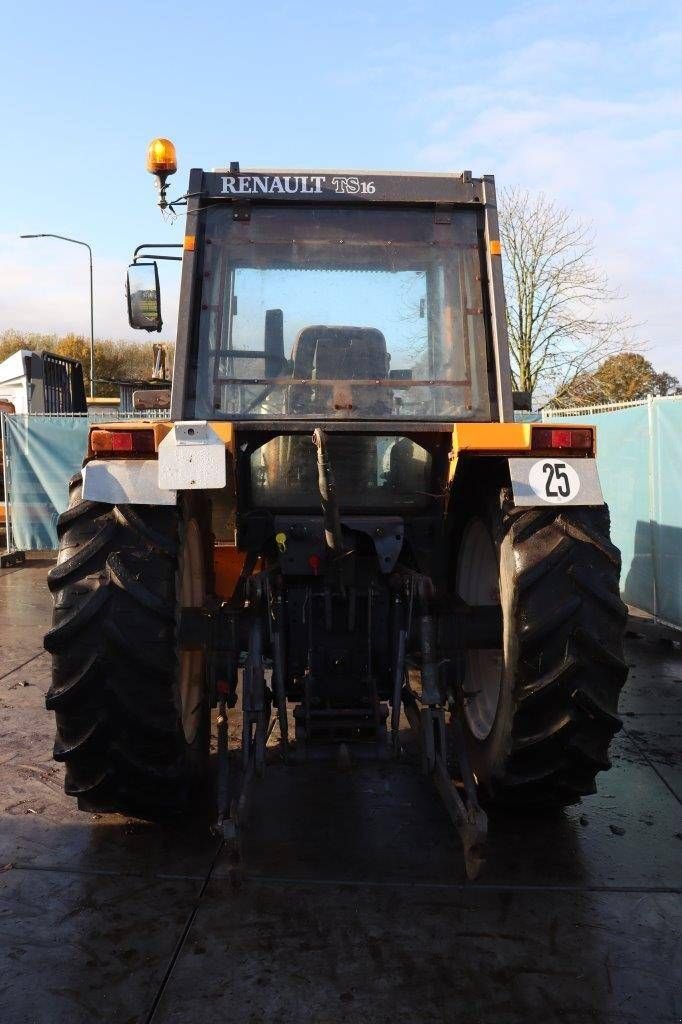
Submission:
M 653 361 L 682 377 L 682 96 L 656 76 L 621 92 L 605 80 L 584 87 L 590 69 L 598 79 L 626 60 L 663 62 L 676 41 L 670 33 L 609 49 L 542 39 L 498 54 L 480 84 L 441 78 L 419 100 L 432 118 L 417 159 L 494 172 L 499 188 L 544 191 L 590 222 L 595 258 L 626 296 L 619 304 L 642 325 Z

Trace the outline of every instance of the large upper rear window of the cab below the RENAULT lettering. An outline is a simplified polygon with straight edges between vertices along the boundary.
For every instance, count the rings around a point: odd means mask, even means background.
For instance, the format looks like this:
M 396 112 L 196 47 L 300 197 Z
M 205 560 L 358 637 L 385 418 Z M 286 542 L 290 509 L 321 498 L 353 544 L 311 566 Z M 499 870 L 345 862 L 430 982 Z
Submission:
M 198 215 L 175 415 L 497 418 L 482 210 L 288 200 Z

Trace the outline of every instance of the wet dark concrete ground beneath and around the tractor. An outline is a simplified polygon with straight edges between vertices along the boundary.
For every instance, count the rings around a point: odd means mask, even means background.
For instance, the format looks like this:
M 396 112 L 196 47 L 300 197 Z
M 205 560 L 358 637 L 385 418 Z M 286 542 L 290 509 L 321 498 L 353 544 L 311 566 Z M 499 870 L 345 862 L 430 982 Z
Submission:
M 679 645 L 631 621 L 599 793 L 494 817 L 475 884 L 409 765 L 275 765 L 236 886 L 207 827 L 63 796 L 46 565 L 0 570 L 2 1024 L 679 1021 Z

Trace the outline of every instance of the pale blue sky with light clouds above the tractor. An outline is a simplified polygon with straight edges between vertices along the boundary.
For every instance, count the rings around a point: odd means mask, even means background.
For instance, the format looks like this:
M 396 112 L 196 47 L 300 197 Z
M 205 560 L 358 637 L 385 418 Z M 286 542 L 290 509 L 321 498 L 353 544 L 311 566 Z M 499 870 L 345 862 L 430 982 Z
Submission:
M 85 250 L 18 240 L 53 231 L 92 246 L 95 334 L 139 340 L 132 251 L 183 234 L 144 170 L 163 135 L 175 194 L 190 167 L 231 160 L 469 169 L 544 191 L 592 225 L 616 308 L 682 376 L 679 3 L 0 0 L 0 331 L 87 333 Z

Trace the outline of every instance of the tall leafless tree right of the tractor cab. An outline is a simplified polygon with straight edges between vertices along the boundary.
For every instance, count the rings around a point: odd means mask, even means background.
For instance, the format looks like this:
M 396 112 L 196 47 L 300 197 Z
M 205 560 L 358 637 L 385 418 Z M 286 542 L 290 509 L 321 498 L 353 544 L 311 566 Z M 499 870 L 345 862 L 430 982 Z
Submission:
M 556 397 L 612 354 L 632 350 L 633 324 L 610 314 L 606 274 L 592 261 L 590 229 L 546 196 L 502 194 L 512 381 L 536 397 Z

